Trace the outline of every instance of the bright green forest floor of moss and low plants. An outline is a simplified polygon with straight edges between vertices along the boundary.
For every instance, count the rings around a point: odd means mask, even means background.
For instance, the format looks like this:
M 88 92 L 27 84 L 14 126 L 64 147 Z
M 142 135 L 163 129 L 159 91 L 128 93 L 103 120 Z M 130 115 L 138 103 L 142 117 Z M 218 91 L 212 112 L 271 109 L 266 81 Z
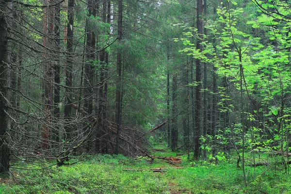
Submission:
M 245 187 L 236 157 L 216 163 L 188 160 L 182 151 L 164 147 L 152 150 L 151 155 L 153 161 L 86 155 L 60 167 L 14 168 L 12 178 L 0 179 L 0 194 L 291 194 L 291 176 L 278 168 L 246 166 Z M 20 162 L 13 166 L 35 169 L 38 165 Z

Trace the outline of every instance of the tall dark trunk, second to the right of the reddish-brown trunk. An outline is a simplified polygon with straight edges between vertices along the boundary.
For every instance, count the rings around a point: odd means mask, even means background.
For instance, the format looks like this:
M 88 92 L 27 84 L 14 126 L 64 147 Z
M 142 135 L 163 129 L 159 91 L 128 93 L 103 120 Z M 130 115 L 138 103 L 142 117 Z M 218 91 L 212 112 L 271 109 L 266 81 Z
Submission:
M 73 82 L 73 38 L 74 38 L 74 3 L 75 0 L 68 0 L 68 23 L 67 23 L 67 59 L 66 59 L 66 68 L 65 68 L 65 115 L 64 119 L 66 122 L 65 125 L 65 140 L 71 138 L 72 126 L 70 121 L 72 120 L 72 82 Z

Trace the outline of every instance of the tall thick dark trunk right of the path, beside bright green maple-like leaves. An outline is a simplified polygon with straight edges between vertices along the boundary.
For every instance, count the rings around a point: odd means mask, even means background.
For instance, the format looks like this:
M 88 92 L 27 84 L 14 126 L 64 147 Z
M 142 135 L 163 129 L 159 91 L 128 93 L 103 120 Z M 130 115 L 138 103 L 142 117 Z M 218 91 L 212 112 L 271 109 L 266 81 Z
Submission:
M 202 51 L 202 39 L 203 39 L 203 22 L 202 22 L 202 12 L 203 12 L 203 0 L 197 0 L 197 32 L 198 32 L 198 40 L 196 43 L 196 49 Z M 200 155 L 199 148 L 200 144 L 200 135 L 202 132 L 202 123 L 201 123 L 201 113 L 202 113 L 202 72 L 201 72 L 202 62 L 200 59 L 196 59 L 196 99 L 195 99 L 195 148 L 194 148 L 194 157 L 198 157 Z

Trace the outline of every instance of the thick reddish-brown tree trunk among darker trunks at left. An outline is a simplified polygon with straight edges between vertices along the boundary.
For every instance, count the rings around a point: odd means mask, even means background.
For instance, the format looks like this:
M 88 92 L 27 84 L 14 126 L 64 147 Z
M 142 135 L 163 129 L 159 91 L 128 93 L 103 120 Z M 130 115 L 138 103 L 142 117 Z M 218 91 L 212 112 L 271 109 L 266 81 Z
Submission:
M 53 4 L 51 0 L 46 0 L 45 5 Z M 44 66 L 44 81 L 43 88 L 44 104 L 45 104 L 45 123 L 42 131 L 42 148 L 49 149 L 49 137 L 51 127 L 51 110 L 53 105 L 53 64 L 51 48 L 53 45 L 54 38 L 54 7 L 48 6 L 44 8 L 44 34 L 43 44 L 47 48 L 43 54 L 43 66 Z

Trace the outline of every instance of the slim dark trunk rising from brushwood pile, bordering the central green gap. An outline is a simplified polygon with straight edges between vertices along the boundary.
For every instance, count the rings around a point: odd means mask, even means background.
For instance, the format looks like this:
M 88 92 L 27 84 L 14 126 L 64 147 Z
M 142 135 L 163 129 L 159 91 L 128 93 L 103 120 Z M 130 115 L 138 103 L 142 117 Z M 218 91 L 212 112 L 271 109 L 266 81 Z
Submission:
M 118 22 L 117 22 L 117 34 L 118 34 L 118 43 L 121 43 L 122 40 L 122 5 L 123 0 L 118 0 Z M 117 81 L 116 81 L 116 123 L 117 123 L 117 133 L 116 133 L 116 145 L 115 145 L 115 154 L 119 153 L 119 137 L 121 130 L 121 50 L 117 51 Z

